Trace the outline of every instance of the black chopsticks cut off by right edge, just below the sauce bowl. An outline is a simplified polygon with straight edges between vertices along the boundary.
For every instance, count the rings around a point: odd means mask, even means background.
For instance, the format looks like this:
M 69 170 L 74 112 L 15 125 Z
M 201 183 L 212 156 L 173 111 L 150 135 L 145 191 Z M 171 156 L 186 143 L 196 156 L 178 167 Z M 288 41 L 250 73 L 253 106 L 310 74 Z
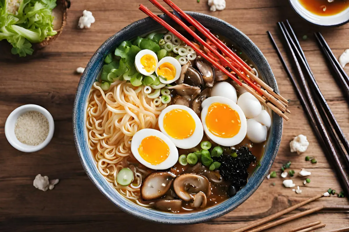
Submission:
M 314 33 L 315 39 L 318 42 L 318 45 L 322 51 L 322 54 L 325 56 L 327 63 L 331 66 L 332 71 L 334 72 L 334 77 L 341 88 L 343 95 L 346 96 L 347 102 L 349 103 L 349 78 L 348 75 L 344 72 L 342 66 L 339 64 L 337 59 L 334 57 L 331 48 L 329 48 L 324 37 L 322 37 L 320 32 Z

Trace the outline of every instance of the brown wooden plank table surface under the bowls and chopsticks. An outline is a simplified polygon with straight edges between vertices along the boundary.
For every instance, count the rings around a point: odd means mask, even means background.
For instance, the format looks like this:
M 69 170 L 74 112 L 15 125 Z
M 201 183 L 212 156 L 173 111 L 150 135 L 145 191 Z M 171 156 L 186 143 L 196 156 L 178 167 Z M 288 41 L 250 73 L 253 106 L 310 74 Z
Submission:
M 312 32 L 320 30 L 338 57 L 349 48 L 349 24 L 323 29 L 302 21 L 290 8 L 288 1 L 280 0 L 227 0 L 223 11 L 209 12 L 207 0 L 176 0 L 183 10 L 198 11 L 219 17 L 244 32 L 262 50 L 273 69 L 283 96 L 290 99 L 290 120 L 284 123 L 282 143 L 272 170 L 280 174 L 280 166 L 292 162 L 296 173 L 300 168 L 311 171 L 311 183 L 303 186 L 303 179 L 294 182 L 303 190 L 296 194 L 282 185 L 282 178 L 266 179 L 245 203 L 233 212 L 197 225 L 169 226 L 140 221 L 109 202 L 92 184 L 82 168 L 73 139 L 72 109 L 80 75 L 79 66 L 86 66 L 96 49 L 111 35 L 126 25 L 145 17 L 138 10 L 140 3 L 159 13 L 146 0 L 73 0 L 68 10 L 67 26 L 60 37 L 49 47 L 39 51 L 35 59 L 21 63 L 0 60 L 0 231 L 224 231 L 244 226 L 255 219 L 273 214 L 297 202 L 308 199 L 328 188 L 340 191 L 331 165 L 314 137 L 302 107 L 266 31 L 279 34 L 276 22 L 289 19 L 309 60 L 315 78 L 325 95 L 344 133 L 349 137 L 349 110 L 340 89 L 329 74 L 324 58 Z M 89 30 L 77 29 L 83 10 L 91 10 L 96 18 Z M 276 36 L 277 37 L 277 36 Z M 278 41 L 280 42 L 280 41 Z M 349 72 L 349 67 L 346 67 Z M 51 112 L 55 120 L 55 133 L 45 149 L 23 153 L 14 149 L 6 140 L 4 125 L 7 116 L 23 104 L 38 104 Z M 298 135 L 308 137 L 310 146 L 303 155 L 290 153 L 289 142 Z M 312 165 L 305 155 L 316 157 Z M 39 191 L 32 183 L 37 174 L 59 178 L 52 191 Z M 275 183 L 273 186 L 272 183 Z M 311 205 L 348 205 L 346 198 L 322 198 Z M 304 210 L 311 206 L 302 207 Z M 321 220 L 322 229 L 331 230 L 349 224 L 344 213 L 316 213 L 284 225 Z M 270 231 L 280 231 L 276 227 Z M 321 231 L 321 230 L 318 230 Z

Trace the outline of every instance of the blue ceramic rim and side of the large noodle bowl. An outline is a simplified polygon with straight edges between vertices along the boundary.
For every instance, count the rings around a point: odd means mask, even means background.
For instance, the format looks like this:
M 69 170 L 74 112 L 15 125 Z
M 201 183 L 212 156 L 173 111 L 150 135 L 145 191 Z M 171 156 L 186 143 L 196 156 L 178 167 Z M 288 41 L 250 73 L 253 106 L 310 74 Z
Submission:
M 275 77 L 270 69 L 270 66 L 268 65 L 267 60 L 257 46 L 255 46 L 245 34 L 221 19 L 194 12 L 188 12 L 188 14 L 197 19 L 205 27 L 213 29 L 215 33 L 223 35 L 226 38 L 230 38 L 231 42 L 242 49 L 242 51 L 247 54 L 247 56 L 255 64 L 255 67 L 265 79 L 265 82 L 273 89 L 278 91 Z M 171 22 L 167 16 L 160 15 L 160 17 L 168 23 L 174 25 L 174 23 Z M 171 214 L 138 206 L 122 197 L 113 189 L 113 187 L 104 179 L 104 177 L 99 174 L 94 158 L 90 153 L 87 143 L 87 131 L 85 128 L 87 97 L 92 83 L 95 81 L 99 70 L 102 68 L 103 59 L 106 54 L 114 51 L 115 47 L 124 40 L 129 40 L 135 38 L 137 35 L 146 34 L 157 29 L 161 29 L 161 26 L 149 17 L 136 21 L 107 39 L 92 56 L 80 79 L 75 96 L 73 125 L 76 149 L 80 156 L 81 163 L 91 181 L 97 186 L 99 191 L 105 195 L 105 197 L 107 197 L 111 202 L 125 212 L 138 218 L 156 223 L 200 223 L 227 214 L 242 204 L 252 195 L 252 193 L 254 193 L 254 191 L 257 190 L 272 166 L 277 150 L 279 149 L 282 134 L 282 119 L 273 113 L 272 127 L 270 128 L 270 136 L 266 144 L 265 153 L 261 160 L 261 167 L 254 172 L 254 174 L 248 180 L 247 185 L 238 191 L 234 197 L 229 198 L 215 207 L 195 213 Z

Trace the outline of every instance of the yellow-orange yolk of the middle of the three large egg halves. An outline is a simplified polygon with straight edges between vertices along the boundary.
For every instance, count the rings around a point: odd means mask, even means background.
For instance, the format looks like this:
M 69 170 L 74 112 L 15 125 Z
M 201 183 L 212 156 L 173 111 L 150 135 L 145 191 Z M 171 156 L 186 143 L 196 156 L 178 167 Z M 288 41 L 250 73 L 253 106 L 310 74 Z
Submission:
M 188 138 L 194 133 L 195 121 L 187 111 L 173 109 L 164 116 L 164 129 L 172 138 Z

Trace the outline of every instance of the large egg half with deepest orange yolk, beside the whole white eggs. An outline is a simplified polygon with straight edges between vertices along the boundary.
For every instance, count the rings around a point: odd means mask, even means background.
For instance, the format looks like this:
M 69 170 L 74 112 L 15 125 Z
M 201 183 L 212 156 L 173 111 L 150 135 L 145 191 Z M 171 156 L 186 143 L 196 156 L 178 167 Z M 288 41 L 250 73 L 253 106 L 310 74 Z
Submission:
M 247 131 L 246 117 L 235 102 L 214 96 L 203 101 L 201 106 L 201 121 L 208 138 L 222 146 L 234 146 L 243 141 Z

